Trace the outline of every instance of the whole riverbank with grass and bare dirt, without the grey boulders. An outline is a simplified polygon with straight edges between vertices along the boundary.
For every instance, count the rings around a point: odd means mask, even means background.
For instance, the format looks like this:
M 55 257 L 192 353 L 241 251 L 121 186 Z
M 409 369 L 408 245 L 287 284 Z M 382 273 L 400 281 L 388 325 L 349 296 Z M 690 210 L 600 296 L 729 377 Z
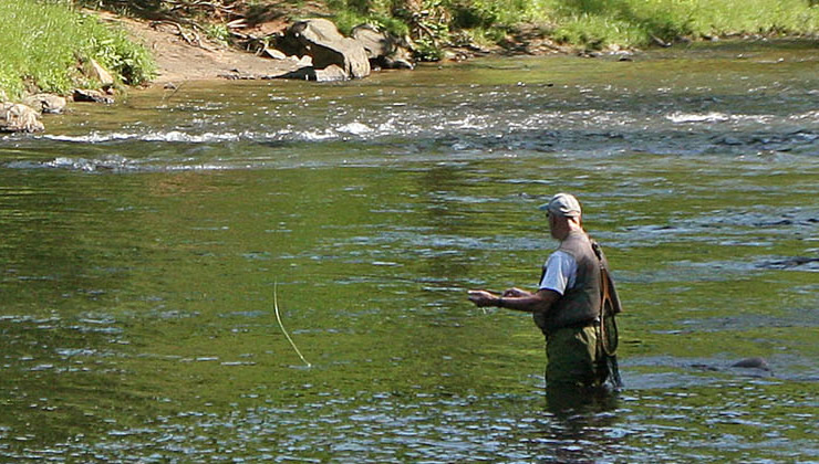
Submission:
M 355 10 L 350 2 L 282 7 L 260 1 L 253 9 L 241 1 L 216 1 L 196 7 L 214 8 L 212 13 L 218 13 L 203 15 L 207 11 L 168 9 L 165 4 L 173 2 L 133 10 L 144 3 L 137 1 L 129 3 L 132 10 L 113 13 L 120 3 L 100 1 L 93 4 L 96 10 L 80 11 L 64 4 L 15 0 L 0 7 L 0 19 L 3 14 L 22 18 L 4 21 L 14 27 L 3 31 L 4 42 L 11 45 L 0 52 L 0 102 L 19 102 L 39 92 L 68 96 L 83 87 L 102 86 L 111 92 L 148 83 L 174 86 L 193 80 L 280 76 L 303 63 L 272 52 L 276 42 L 288 25 L 307 17 L 330 18 L 348 35 L 355 24 L 375 24 L 403 41 L 417 61 L 500 54 L 629 55 L 645 48 L 726 36 L 816 40 L 819 31 L 819 7 L 796 0 L 776 4 L 754 0 L 751 15 L 745 11 L 748 9 L 737 11 L 719 0 L 709 2 L 708 8 L 698 0 L 640 6 L 624 0 L 616 8 L 589 0 L 573 6 L 547 1 L 538 8 L 522 2 L 506 9 L 504 1 L 460 9 L 449 3 L 421 9 L 425 2 L 406 2 L 412 14 L 387 11 L 377 1 L 367 3 L 365 11 Z M 27 35 L 25 28 L 41 38 L 33 49 L 12 43 Z M 113 74 L 112 83 L 89 73 L 99 67 L 97 61 Z M 111 98 L 101 96 L 97 101 Z

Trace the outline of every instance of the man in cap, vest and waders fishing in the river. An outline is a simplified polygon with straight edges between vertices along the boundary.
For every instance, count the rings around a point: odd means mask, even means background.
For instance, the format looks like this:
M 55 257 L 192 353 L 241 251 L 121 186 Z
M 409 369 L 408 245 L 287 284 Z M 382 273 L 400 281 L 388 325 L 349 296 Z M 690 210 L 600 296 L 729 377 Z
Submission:
M 538 291 L 509 288 L 502 295 L 469 291 L 469 300 L 479 307 L 532 313 L 546 336 L 550 390 L 600 387 L 607 379 L 620 388 L 613 318 L 620 302 L 605 256 L 583 230 L 577 198 L 558 193 L 539 209 L 546 211 L 551 236 L 560 246 L 543 265 Z

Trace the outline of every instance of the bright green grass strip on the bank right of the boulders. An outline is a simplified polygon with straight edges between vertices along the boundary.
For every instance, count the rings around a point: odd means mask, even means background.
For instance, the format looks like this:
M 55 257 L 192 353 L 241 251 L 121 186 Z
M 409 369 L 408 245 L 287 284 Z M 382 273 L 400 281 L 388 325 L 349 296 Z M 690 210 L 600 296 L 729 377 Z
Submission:
M 660 39 L 699 39 L 733 34 L 819 35 L 817 0 L 422 0 L 428 17 L 407 14 L 409 0 L 329 0 L 342 31 L 370 21 L 400 30 L 384 18 L 415 31 L 421 21 L 446 44 L 453 38 L 502 42 L 523 25 L 541 30 L 560 43 L 602 49 L 646 46 Z M 405 8 L 406 7 L 406 8 Z M 535 28 L 531 28 L 531 27 Z M 455 40 L 457 42 L 457 40 Z M 428 45 L 428 44 L 427 44 Z

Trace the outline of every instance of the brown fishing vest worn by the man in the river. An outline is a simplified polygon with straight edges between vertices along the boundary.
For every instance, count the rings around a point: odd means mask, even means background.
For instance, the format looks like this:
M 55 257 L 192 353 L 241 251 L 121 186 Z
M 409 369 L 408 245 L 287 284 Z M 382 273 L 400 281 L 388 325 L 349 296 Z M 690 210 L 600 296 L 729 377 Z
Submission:
M 545 334 L 564 327 L 590 325 L 600 316 L 600 261 L 592 250 L 589 236 L 583 231 L 571 231 L 558 250 L 574 259 L 578 274 L 574 285 L 566 289 L 563 296 L 554 302 L 541 319 L 541 324 L 538 324 Z

